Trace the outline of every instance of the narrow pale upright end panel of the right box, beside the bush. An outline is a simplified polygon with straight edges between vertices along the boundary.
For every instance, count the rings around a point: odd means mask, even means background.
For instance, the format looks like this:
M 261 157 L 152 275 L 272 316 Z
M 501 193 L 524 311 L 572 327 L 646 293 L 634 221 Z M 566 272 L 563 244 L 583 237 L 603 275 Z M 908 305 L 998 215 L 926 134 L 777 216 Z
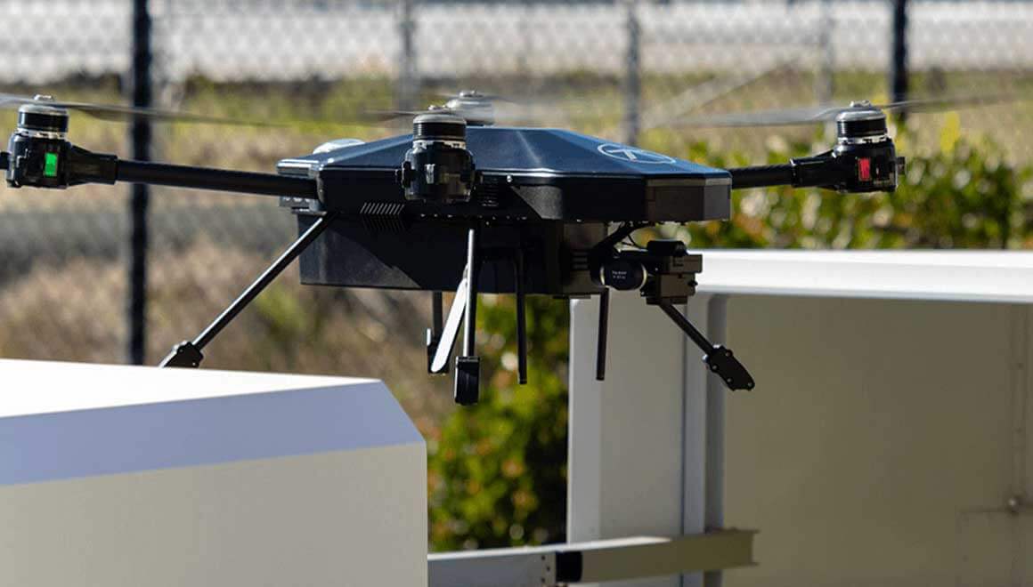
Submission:
M 637 292 L 614 292 L 606 379 L 595 381 L 598 305 L 571 305 L 568 540 L 700 532 L 706 390 L 686 382 L 706 373 L 697 360 L 687 363 L 685 337 L 660 309 Z M 686 577 L 686 585 L 700 581 Z M 669 577 L 620 585 L 680 584 Z

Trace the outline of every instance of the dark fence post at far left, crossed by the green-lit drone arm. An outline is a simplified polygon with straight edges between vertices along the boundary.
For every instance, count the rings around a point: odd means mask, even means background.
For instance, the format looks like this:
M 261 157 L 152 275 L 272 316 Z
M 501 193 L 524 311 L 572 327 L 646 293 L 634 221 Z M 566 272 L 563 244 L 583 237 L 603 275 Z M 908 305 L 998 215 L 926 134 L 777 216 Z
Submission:
M 132 61 L 129 91 L 134 106 L 150 106 L 151 89 L 151 13 L 148 0 L 133 0 Z M 151 123 L 134 119 L 129 130 L 133 159 L 150 160 Z M 147 186 L 133 184 L 129 198 L 129 299 L 127 307 L 128 349 L 131 364 L 144 364 L 147 353 Z

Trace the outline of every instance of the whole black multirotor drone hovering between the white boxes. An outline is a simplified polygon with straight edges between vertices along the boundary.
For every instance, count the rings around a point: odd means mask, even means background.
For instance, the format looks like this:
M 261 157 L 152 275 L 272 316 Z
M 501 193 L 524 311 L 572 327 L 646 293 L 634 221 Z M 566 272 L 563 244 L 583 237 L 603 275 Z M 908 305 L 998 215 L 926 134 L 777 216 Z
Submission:
M 325 143 L 284 159 L 276 173 L 171 165 L 93 153 L 67 140 L 69 111 L 101 119 L 220 122 L 168 110 L 0 95 L 18 125 L 0 165 L 7 185 L 65 189 L 136 183 L 274 196 L 296 217 L 299 237 L 196 337 L 175 346 L 166 367 L 197 367 L 204 349 L 285 267 L 300 258 L 306 285 L 432 294 L 427 369 L 455 368 L 455 400 L 475 403 L 477 296 L 516 300 L 518 381 L 527 383 L 528 295 L 601 298 L 596 377 L 605 377 L 609 291 L 637 290 L 702 352 L 730 390 L 751 390 L 747 368 L 678 309 L 695 293 L 702 257 L 684 242 L 622 244 L 659 223 L 727 220 L 731 190 L 792 186 L 841 193 L 893 192 L 903 173 L 886 112 L 942 109 L 946 100 L 776 110 L 686 119 L 685 126 L 828 122 L 828 151 L 777 165 L 717 169 L 555 128 L 496 126 L 494 97 L 464 92 L 415 112 L 412 133 Z M 455 291 L 445 317 L 443 292 Z M 462 352 L 451 356 L 464 328 Z

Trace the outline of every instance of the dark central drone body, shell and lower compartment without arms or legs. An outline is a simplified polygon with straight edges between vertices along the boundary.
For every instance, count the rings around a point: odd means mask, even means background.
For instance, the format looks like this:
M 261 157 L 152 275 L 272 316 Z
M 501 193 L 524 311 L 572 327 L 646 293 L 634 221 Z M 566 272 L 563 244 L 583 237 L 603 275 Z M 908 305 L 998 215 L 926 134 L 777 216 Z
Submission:
M 530 294 L 588 295 L 603 286 L 588 258 L 609 223 L 724 220 L 731 176 L 665 155 L 566 130 L 471 126 L 466 150 L 476 181 L 468 198 L 407 196 L 399 180 L 413 136 L 281 161 L 280 173 L 316 177 L 319 203 L 300 206 L 303 231 L 340 214 L 301 256 L 306 284 L 453 290 L 468 230 L 479 225 L 477 290 L 515 293 L 512 260 L 524 257 Z

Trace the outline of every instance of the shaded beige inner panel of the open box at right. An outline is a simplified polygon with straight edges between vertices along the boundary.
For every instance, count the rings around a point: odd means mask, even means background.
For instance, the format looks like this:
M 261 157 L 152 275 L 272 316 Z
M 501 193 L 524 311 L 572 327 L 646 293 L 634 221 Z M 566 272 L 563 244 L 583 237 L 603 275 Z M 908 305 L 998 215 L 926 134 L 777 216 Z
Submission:
M 1031 585 L 1033 309 L 737 296 L 757 380 L 727 401 L 725 509 L 746 585 Z

